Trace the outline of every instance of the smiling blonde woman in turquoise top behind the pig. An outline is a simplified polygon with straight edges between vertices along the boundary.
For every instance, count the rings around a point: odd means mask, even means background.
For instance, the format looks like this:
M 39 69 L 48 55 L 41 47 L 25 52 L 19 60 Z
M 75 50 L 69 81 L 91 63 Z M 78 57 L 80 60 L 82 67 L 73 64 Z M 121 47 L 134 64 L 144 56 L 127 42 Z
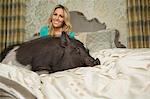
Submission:
M 52 10 L 48 20 L 48 26 L 40 29 L 40 36 L 50 35 L 59 37 L 62 31 L 64 31 L 68 33 L 70 38 L 73 38 L 74 32 L 71 32 L 71 29 L 69 10 L 63 5 L 57 5 Z

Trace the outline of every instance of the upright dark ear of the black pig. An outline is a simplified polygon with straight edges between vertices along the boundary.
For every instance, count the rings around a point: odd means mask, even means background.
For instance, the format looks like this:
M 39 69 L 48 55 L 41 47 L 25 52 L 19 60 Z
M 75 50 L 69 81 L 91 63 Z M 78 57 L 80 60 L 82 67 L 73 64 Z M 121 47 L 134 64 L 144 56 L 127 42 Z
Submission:
M 66 32 L 62 32 L 62 36 L 61 36 L 61 46 L 62 46 L 62 47 L 66 47 L 66 46 L 68 46 L 69 43 L 70 43 L 69 36 L 67 35 Z

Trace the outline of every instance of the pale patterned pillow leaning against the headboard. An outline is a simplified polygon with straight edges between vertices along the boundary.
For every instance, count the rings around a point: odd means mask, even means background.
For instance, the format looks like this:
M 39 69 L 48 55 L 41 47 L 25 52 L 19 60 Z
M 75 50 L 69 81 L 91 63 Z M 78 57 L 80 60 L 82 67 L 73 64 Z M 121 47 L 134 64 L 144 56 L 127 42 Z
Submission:
M 84 43 L 90 52 L 101 49 L 115 48 L 115 29 L 106 29 L 96 32 L 78 32 L 75 38 Z

